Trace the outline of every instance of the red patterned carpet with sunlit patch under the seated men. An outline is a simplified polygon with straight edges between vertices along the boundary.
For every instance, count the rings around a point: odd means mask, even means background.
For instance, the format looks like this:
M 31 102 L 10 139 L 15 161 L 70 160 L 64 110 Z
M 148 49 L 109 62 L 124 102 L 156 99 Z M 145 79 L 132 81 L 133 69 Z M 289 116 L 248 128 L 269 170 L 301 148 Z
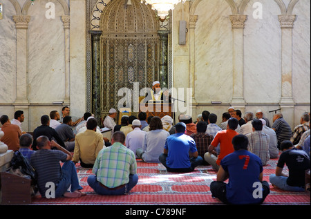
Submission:
M 278 159 L 270 160 L 264 166 L 264 180 L 274 173 Z M 77 164 L 78 165 L 78 164 Z M 91 169 L 77 166 L 82 191 L 87 196 L 81 198 L 32 198 L 33 205 L 221 205 L 211 198 L 209 185 L 216 180 L 216 171 L 211 166 L 198 166 L 191 173 L 169 173 L 162 164 L 144 163 L 138 160 L 138 184 L 125 196 L 100 196 L 88 186 L 86 179 Z M 310 205 L 307 193 L 294 193 L 274 189 L 270 184 L 270 194 L 263 205 Z

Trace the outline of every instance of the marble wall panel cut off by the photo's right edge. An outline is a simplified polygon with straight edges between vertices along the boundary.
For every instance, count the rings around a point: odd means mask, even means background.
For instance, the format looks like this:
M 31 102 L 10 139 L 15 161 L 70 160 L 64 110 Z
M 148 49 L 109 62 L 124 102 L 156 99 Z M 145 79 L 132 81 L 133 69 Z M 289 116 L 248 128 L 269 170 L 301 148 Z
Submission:
M 298 1 L 293 15 L 292 96 L 294 102 L 310 103 L 310 1 Z

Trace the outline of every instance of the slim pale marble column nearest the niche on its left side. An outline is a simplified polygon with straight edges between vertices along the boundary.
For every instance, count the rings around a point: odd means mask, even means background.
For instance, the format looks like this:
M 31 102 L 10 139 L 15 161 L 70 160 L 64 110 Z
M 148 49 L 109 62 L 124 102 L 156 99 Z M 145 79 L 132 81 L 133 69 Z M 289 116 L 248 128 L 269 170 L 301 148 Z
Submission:
M 69 90 L 69 28 L 70 28 L 70 16 L 62 16 L 64 24 L 64 37 L 65 37 L 65 98 L 64 106 L 70 106 L 70 90 Z

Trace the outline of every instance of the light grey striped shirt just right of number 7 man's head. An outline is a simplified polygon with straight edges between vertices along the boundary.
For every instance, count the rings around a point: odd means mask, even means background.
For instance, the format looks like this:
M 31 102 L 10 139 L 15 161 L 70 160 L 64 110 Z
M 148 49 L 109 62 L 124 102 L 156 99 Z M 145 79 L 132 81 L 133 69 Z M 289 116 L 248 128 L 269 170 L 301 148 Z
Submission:
M 263 133 L 263 131 L 254 131 L 246 136 L 248 138 L 248 151 L 261 158 L 261 162 L 265 166 L 270 159 L 269 135 Z

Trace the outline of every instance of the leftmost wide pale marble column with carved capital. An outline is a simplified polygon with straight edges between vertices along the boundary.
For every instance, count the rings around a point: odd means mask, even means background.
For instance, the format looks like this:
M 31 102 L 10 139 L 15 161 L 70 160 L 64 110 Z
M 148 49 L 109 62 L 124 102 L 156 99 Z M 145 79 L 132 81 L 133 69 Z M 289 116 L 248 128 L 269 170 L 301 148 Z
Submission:
M 22 128 L 28 131 L 28 83 L 27 83 L 27 29 L 30 16 L 13 16 L 16 27 L 16 99 L 13 103 L 15 111 L 21 110 L 25 120 Z

